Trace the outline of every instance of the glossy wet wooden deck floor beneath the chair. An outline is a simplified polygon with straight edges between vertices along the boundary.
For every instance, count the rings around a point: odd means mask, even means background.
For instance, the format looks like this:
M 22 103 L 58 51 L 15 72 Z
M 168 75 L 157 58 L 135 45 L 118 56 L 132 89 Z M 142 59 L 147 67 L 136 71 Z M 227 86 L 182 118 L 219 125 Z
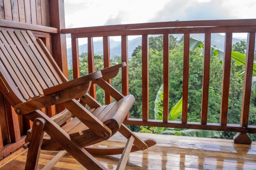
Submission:
M 141 138 L 153 138 L 157 145 L 130 154 L 126 170 L 256 170 L 256 142 L 251 146 L 233 144 L 232 140 L 180 137 L 137 133 Z M 99 146 L 124 145 L 125 138 L 116 134 Z M 43 168 L 57 152 L 41 151 L 39 167 Z M 24 170 L 27 150 L 20 149 L 0 161 L 0 170 Z M 121 155 L 97 156 L 109 170 L 115 170 Z M 84 170 L 66 154 L 52 170 Z

